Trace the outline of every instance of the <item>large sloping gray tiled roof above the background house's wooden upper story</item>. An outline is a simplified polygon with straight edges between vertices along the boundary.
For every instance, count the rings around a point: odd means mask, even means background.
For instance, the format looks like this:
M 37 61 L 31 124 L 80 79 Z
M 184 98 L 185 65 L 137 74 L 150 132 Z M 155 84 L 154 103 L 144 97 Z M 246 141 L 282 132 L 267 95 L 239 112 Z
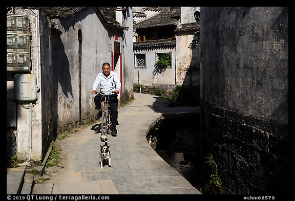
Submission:
M 180 20 L 180 8 L 165 10 L 150 18 L 133 25 L 135 29 L 146 29 L 152 27 L 175 26 Z

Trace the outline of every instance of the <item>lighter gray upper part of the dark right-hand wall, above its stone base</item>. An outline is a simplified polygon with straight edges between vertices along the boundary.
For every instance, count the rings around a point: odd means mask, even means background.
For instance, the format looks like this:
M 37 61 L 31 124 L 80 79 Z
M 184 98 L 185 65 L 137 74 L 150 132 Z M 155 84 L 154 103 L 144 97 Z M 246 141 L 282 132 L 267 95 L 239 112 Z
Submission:
M 288 8 L 201 10 L 201 99 L 288 123 Z

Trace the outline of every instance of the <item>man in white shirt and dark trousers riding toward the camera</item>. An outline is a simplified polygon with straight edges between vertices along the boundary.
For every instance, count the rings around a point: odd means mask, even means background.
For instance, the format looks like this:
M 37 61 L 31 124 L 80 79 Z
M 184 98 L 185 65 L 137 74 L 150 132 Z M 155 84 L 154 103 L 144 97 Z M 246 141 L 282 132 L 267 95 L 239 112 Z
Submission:
M 96 93 L 97 86 L 100 86 L 99 93 L 94 97 L 95 109 L 98 109 L 97 117 L 101 117 L 101 101 L 103 95 L 109 95 L 109 104 L 111 107 L 112 136 L 117 136 L 116 125 L 118 122 L 118 93 L 121 91 L 121 82 L 116 72 L 111 71 L 110 63 L 102 64 L 102 72 L 98 73 L 92 85 L 91 94 Z

